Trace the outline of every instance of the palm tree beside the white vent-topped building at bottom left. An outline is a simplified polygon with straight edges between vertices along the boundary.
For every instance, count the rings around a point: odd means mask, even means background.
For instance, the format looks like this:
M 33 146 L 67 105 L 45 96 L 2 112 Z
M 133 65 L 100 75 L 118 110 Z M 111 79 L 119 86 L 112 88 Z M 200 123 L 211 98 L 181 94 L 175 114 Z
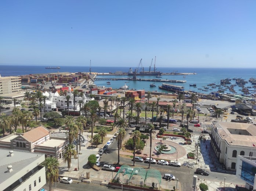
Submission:
M 42 163 L 46 170 L 46 181 L 49 183 L 49 190 L 51 191 L 51 184 L 57 182 L 59 177 L 59 162 L 55 157 L 46 157 Z

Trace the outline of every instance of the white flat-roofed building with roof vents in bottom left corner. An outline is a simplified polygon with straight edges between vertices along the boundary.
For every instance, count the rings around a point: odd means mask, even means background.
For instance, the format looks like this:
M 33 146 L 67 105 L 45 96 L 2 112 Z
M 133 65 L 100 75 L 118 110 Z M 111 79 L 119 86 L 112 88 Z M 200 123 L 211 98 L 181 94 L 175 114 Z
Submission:
M 46 184 L 44 154 L 0 149 L 0 188 L 3 191 L 39 190 Z

